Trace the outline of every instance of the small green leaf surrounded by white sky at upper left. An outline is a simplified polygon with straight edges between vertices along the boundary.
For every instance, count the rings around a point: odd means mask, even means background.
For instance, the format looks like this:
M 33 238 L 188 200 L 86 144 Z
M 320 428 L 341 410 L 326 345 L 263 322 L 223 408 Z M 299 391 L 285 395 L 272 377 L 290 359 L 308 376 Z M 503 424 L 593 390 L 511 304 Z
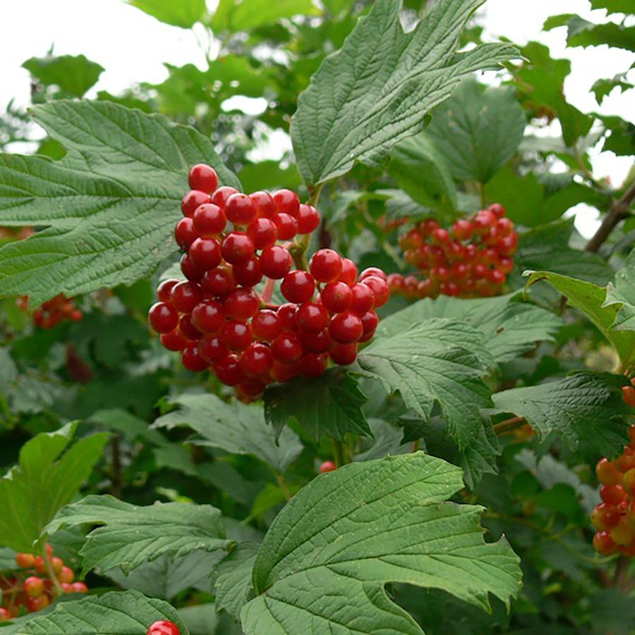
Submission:
M 58 86 L 67 97 L 83 97 L 105 70 L 83 55 L 32 57 L 22 68 L 45 86 Z

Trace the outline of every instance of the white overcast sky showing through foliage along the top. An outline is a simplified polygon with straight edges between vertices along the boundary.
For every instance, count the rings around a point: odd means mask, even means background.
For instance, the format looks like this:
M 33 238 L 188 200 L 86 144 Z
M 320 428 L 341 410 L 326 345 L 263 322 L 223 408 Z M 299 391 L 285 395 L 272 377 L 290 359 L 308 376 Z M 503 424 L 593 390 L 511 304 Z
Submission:
M 207 0 L 213 7 L 214 0 Z M 3 3 L 0 24 L 0 109 L 15 98 L 28 104 L 29 75 L 20 65 L 32 56 L 44 56 L 54 44 L 56 54 L 84 54 L 106 70 L 95 89 L 118 93 L 134 82 L 161 82 L 167 77 L 163 63 L 181 66 L 195 63 L 203 67 L 205 56 L 195 34 L 159 23 L 123 0 L 30 0 Z M 635 113 L 635 91 L 612 92 L 600 107 L 589 89 L 600 78 L 610 78 L 627 70 L 633 54 L 608 47 L 567 49 L 566 30 L 541 32 L 545 18 L 557 13 L 579 13 L 600 22 L 604 11 L 590 11 L 588 0 L 488 0 L 483 11 L 485 37 L 504 35 L 524 44 L 538 39 L 548 44 L 552 55 L 571 59 L 572 72 L 565 85 L 567 99 L 582 111 L 600 111 L 631 119 Z M 621 16 L 620 16 L 621 17 Z M 617 21 L 617 16 L 611 16 Z M 202 35 L 202 30 L 198 31 Z M 631 71 L 631 82 L 635 73 Z M 284 135 L 283 135 L 284 137 Z M 286 140 L 277 137 L 280 147 Z M 265 149 L 265 152 L 267 150 Z M 272 158 L 278 154 L 271 149 Z M 619 185 L 626 177 L 631 160 L 612 152 L 593 156 L 596 177 L 610 176 Z M 576 208 L 576 226 L 585 235 L 593 232 L 593 212 Z

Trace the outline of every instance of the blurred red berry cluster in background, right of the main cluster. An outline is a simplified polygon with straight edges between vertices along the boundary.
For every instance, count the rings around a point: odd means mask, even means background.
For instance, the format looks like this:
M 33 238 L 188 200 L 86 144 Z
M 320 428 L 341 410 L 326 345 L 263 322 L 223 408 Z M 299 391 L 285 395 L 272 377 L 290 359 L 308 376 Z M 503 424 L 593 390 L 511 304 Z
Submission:
M 433 218 L 418 223 L 401 235 L 399 246 L 423 278 L 392 273 L 390 290 L 412 299 L 497 295 L 514 268 L 518 245 L 514 223 L 504 216 L 504 207 L 495 203 L 456 221 L 450 231 Z

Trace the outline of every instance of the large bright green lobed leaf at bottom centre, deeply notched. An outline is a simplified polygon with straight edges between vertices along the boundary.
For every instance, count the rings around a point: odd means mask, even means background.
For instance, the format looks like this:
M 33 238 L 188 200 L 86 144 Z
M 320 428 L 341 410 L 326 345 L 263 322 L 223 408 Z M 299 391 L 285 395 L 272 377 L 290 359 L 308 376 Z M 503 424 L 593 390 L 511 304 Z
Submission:
M 247 635 L 421 635 L 385 584 L 441 588 L 481 608 L 519 591 L 518 558 L 485 544 L 481 507 L 443 502 L 461 470 L 423 452 L 351 463 L 322 474 L 270 526 L 253 569 Z

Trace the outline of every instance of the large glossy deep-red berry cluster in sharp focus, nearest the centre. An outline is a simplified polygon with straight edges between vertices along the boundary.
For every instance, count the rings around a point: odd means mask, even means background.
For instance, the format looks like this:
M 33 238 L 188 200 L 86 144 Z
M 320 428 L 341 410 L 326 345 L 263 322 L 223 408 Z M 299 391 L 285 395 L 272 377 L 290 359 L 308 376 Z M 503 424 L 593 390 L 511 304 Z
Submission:
M 332 249 L 315 252 L 308 271 L 292 270 L 298 245 L 286 241 L 320 223 L 295 192 L 217 188 L 204 165 L 192 168 L 189 183 L 175 230 L 187 281 L 159 285 L 149 314 L 164 347 L 180 351 L 191 371 L 211 369 L 244 401 L 272 381 L 318 376 L 329 359 L 351 364 L 358 344 L 375 333 L 374 309 L 389 300 L 386 274 L 371 268 L 358 276 L 353 261 Z M 271 303 L 276 280 L 288 301 L 279 306 Z

